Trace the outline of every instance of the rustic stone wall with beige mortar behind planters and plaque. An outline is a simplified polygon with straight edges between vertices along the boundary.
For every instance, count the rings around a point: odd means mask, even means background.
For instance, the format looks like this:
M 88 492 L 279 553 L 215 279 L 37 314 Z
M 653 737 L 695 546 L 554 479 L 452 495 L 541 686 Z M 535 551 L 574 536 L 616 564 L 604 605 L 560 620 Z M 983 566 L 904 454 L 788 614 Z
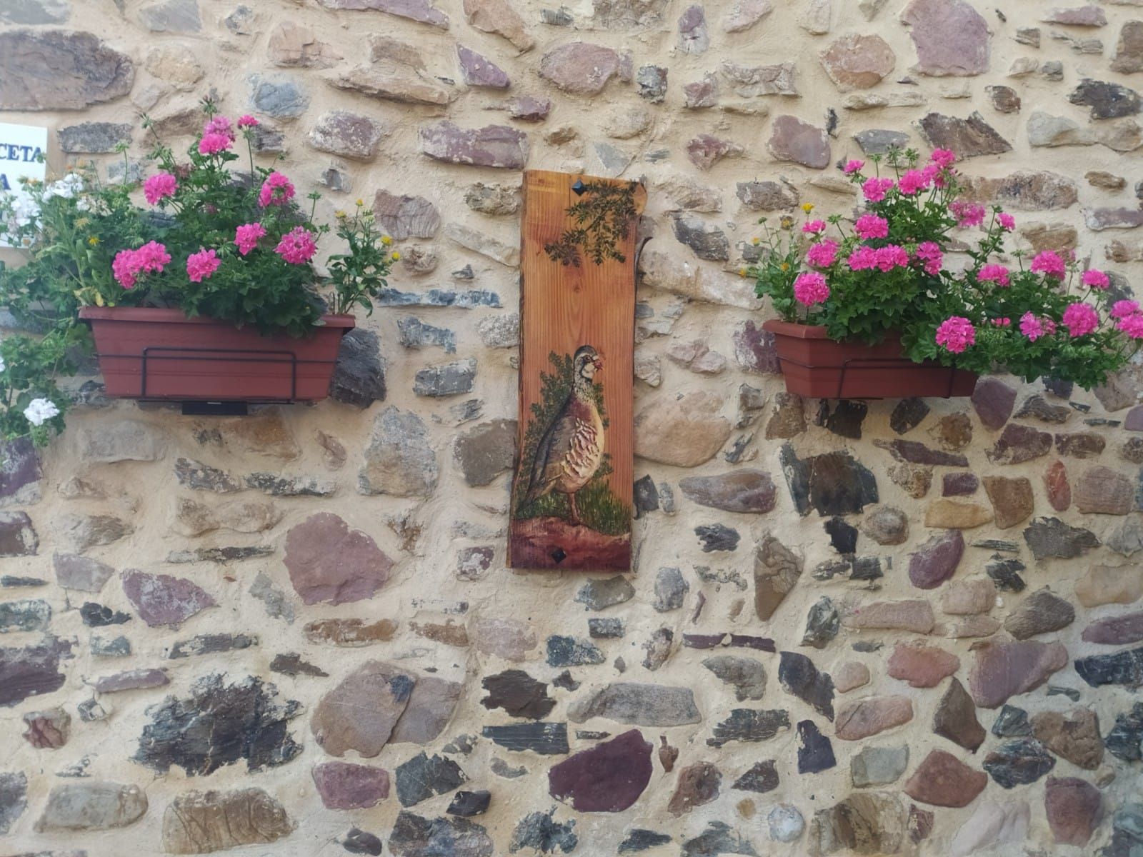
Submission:
M 195 418 L 81 377 L 42 463 L 10 450 L 0 852 L 1143 848 L 1143 377 L 800 401 L 735 277 L 759 216 L 848 213 L 832 165 L 909 143 L 1127 290 L 1140 0 L 0 21 L 0 119 L 54 169 L 145 171 L 136 113 L 183 146 L 213 91 L 403 255 L 335 400 Z M 649 190 L 637 574 L 504 568 L 523 167 Z

